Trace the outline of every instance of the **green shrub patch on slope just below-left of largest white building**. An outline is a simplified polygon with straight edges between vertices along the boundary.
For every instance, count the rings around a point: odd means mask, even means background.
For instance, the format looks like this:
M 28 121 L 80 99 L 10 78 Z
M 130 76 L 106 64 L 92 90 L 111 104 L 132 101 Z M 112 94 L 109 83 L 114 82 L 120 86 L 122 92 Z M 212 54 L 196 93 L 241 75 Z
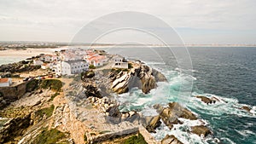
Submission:
M 40 85 L 43 89 L 54 89 L 61 91 L 62 83 L 58 79 L 44 79 Z

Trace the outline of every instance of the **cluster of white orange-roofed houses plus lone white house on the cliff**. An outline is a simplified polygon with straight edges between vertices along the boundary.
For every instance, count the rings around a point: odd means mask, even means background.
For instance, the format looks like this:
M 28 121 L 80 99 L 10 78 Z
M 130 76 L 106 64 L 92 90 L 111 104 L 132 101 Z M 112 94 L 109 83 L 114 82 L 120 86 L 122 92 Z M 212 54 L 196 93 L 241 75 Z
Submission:
M 52 69 L 56 75 L 73 75 L 85 72 L 90 65 L 103 66 L 108 64 L 107 55 L 100 55 L 94 49 L 65 49 L 55 52 L 54 55 L 39 55 L 37 60 L 33 60 L 34 65 L 40 65 L 43 69 Z M 120 55 L 114 55 L 113 66 L 118 68 L 128 68 L 128 62 Z

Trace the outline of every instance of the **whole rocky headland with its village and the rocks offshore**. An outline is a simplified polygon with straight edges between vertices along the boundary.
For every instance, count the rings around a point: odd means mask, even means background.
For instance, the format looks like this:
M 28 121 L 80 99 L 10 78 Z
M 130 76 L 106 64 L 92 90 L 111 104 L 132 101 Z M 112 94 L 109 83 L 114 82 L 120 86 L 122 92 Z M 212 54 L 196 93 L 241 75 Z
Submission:
M 167 81 L 140 60 L 100 49 L 59 49 L 2 65 L 0 72 L 0 143 L 182 144 L 174 135 L 156 141 L 151 133 L 160 124 L 173 130 L 183 119 L 197 123 L 186 129 L 188 133 L 201 139 L 213 133 L 177 102 L 154 105 L 158 113 L 154 116 L 134 110 L 120 112 L 114 95 L 135 87 L 148 94 L 158 82 Z M 207 105 L 222 101 L 196 98 Z

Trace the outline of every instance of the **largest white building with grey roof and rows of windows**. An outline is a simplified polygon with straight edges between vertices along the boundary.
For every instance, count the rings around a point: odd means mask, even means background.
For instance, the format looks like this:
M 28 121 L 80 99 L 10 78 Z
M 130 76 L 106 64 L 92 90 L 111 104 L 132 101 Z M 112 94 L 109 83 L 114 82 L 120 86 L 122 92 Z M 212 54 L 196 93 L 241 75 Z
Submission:
M 72 75 L 85 72 L 89 69 L 89 64 L 84 60 L 58 61 L 55 67 L 57 75 Z

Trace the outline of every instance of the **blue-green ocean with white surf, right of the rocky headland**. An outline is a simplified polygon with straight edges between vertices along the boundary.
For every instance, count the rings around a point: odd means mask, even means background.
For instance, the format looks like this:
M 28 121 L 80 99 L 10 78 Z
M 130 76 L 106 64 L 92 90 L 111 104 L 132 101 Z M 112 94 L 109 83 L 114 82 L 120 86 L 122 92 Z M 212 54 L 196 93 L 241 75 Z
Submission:
M 183 143 L 256 143 L 256 48 L 252 47 L 191 47 L 188 48 L 192 60 L 191 75 L 183 73 L 177 65 L 175 56 L 167 48 L 119 48 L 108 49 L 111 54 L 143 60 L 166 75 L 168 83 L 158 83 L 145 95 L 140 89 L 117 96 L 121 111 L 137 110 L 144 115 L 154 116 L 154 104 L 166 106 L 177 101 L 183 107 L 195 112 L 213 131 L 213 135 L 202 139 L 188 132 L 189 126 L 201 123 L 198 120 L 181 119 L 175 130 L 168 130 L 161 124 L 154 137 L 161 140 L 175 135 Z M 190 95 L 180 91 L 189 87 L 193 81 Z M 186 83 L 188 82 L 188 83 Z M 195 95 L 215 96 L 222 100 L 207 105 Z M 250 112 L 239 107 L 251 107 Z

